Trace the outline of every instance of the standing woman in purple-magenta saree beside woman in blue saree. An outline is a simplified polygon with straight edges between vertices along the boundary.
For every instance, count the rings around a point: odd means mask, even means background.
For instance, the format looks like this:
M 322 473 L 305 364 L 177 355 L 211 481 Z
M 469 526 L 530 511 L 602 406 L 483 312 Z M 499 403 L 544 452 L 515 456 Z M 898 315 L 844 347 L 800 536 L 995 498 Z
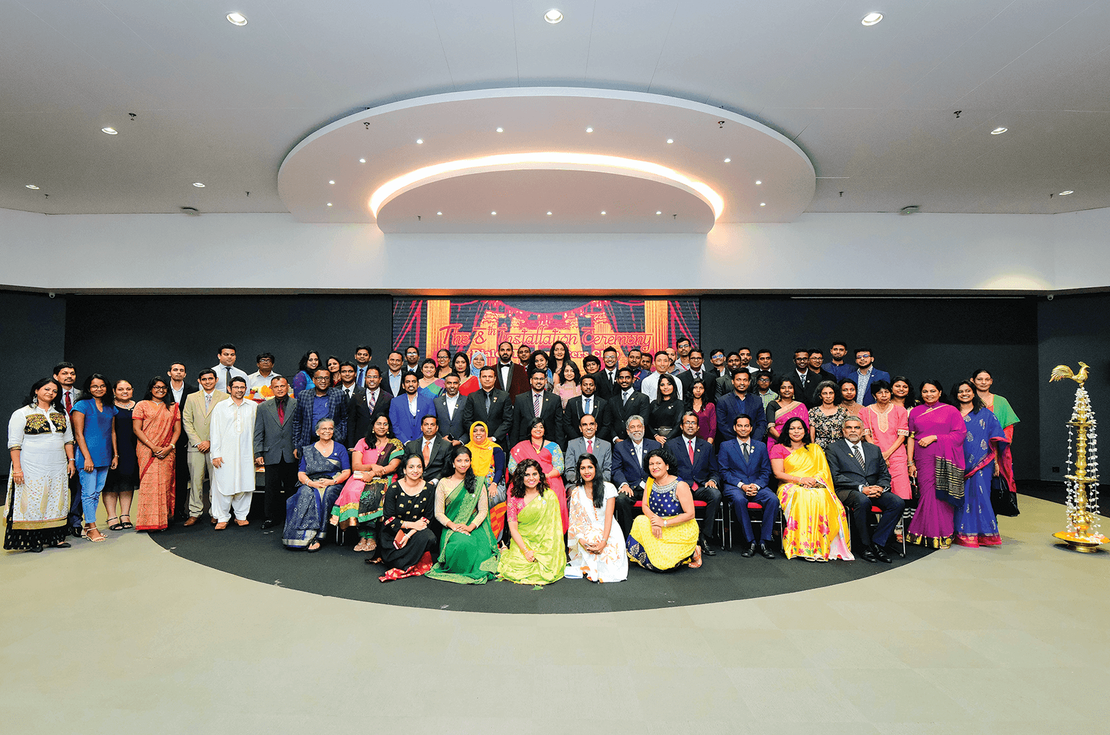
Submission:
M 921 383 L 921 405 L 909 412 L 909 474 L 921 499 L 909 524 L 912 544 L 948 548 L 957 499 L 963 497 L 963 439 L 968 430 L 959 409 L 942 403 L 939 381 Z

